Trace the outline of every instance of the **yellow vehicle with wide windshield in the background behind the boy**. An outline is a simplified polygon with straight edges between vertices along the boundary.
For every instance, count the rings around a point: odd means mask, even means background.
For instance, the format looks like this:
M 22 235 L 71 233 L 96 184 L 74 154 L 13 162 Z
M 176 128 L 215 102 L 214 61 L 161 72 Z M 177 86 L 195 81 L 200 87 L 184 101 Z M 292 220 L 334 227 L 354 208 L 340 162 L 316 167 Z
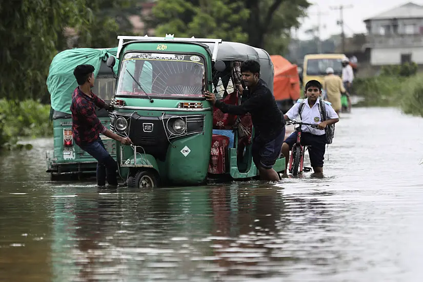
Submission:
M 342 59 L 344 54 L 308 54 L 304 56 L 303 84 L 310 80 L 318 80 L 323 83 L 326 69 L 331 67 L 334 74 L 342 76 Z

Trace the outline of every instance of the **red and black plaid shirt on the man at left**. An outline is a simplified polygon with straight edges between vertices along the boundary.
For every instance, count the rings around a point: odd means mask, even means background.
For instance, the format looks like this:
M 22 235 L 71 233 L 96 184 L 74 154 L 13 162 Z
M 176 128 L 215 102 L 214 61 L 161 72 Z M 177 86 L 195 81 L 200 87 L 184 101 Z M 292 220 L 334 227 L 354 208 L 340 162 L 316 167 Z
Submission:
M 94 142 L 106 127 L 100 123 L 95 114 L 95 106 L 104 108 L 105 103 L 91 92 L 92 98 L 76 87 L 72 94 L 72 137 L 76 145 L 86 145 Z

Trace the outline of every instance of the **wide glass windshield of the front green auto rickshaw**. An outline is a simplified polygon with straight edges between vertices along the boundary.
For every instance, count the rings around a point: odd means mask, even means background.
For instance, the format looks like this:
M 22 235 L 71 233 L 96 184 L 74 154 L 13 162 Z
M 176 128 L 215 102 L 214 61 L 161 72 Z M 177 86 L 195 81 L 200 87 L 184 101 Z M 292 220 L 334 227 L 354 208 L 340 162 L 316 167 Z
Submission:
M 131 52 L 124 55 L 116 96 L 202 97 L 204 83 L 205 65 L 200 56 Z

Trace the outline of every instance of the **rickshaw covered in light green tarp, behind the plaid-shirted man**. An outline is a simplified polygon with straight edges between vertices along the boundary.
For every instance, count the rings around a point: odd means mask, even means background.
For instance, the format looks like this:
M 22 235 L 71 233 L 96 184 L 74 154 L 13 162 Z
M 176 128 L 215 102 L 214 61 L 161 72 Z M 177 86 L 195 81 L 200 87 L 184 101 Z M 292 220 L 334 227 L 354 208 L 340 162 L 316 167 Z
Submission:
M 74 48 L 58 53 L 52 60 L 47 77 L 50 93 L 50 121 L 53 123 L 53 150 L 46 152 L 47 172 L 51 179 L 64 175 L 95 174 L 97 161 L 80 149 L 72 138 L 72 115 L 70 106 L 72 93 L 78 86 L 73 70 L 81 64 L 93 65 L 95 84 L 92 91 L 106 103 L 110 103 L 115 89 L 113 72 L 107 67 L 110 56 L 115 57 L 117 48 L 92 49 Z M 116 68 L 117 71 L 117 68 Z M 105 109 L 96 109 L 97 117 L 109 128 L 109 113 Z M 116 158 L 116 142 L 101 135 L 107 151 Z

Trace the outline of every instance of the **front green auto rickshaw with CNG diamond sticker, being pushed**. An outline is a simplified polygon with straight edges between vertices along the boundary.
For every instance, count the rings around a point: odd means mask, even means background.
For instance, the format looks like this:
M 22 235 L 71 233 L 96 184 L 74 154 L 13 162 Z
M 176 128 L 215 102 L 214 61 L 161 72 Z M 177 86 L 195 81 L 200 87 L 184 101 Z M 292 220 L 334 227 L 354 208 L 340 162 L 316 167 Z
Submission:
M 120 176 L 130 187 L 200 185 L 208 180 L 250 179 L 254 129 L 249 114 L 233 116 L 214 108 L 205 90 L 238 105 L 234 88 L 240 64 L 260 62 L 261 78 L 273 88 L 269 54 L 221 39 L 118 36 L 116 91 L 110 130 L 133 146 L 117 145 Z M 114 57 L 107 61 L 116 66 Z M 285 158 L 274 169 L 285 169 Z

